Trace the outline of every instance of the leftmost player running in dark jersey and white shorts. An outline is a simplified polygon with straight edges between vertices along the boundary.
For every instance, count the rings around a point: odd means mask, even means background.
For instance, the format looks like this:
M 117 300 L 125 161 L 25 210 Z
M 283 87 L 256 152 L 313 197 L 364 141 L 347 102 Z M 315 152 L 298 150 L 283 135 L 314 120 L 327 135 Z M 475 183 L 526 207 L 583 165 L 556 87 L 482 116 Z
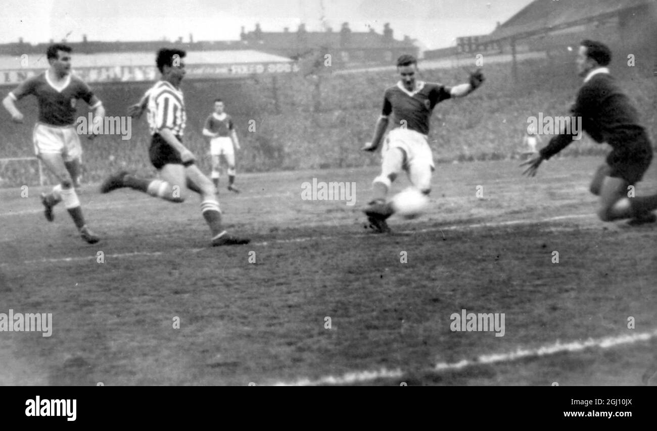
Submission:
M 102 122 L 105 111 L 89 86 L 71 73 L 71 51 L 63 43 L 50 45 L 46 52 L 50 67 L 18 85 L 5 97 L 3 105 L 12 121 L 22 123 L 23 114 L 15 102 L 30 94 L 37 98 L 39 119 L 33 132 L 34 151 L 59 181 L 51 193 L 41 194 L 45 218 L 53 221 L 53 208 L 63 201 L 82 239 L 93 244 L 99 237 L 87 227 L 75 190 L 82 153 L 75 127 L 76 103 L 82 99 L 89 105 L 94 111 L 95 124 Z

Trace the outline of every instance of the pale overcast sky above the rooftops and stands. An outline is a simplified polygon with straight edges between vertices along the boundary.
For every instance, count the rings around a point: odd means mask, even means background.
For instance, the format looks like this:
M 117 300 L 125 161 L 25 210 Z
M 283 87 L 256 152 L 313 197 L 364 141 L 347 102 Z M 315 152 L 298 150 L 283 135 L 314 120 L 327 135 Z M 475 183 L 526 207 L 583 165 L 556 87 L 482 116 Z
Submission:
M 428 49 L 495 29 L 532 0 L 3 0 L 0 43 L 238 40 L 242 26 L 263 31 L 340 30 L 409 35 Z

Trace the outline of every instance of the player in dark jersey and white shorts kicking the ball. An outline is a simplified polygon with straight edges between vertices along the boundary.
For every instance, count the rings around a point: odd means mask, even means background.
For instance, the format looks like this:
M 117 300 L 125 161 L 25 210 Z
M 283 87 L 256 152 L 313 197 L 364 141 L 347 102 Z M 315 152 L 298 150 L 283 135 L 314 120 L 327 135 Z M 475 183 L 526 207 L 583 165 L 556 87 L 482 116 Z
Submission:
M 386 196 L 397 174 L 405 171 L 411 184 L 428 195 L 434 161 L 428 143 L 429 122 L 436 104 L 442 100 L 470 94 L 484 81 L 478 70 L 470 75 L 470 82 L 455 87 L 426 83 L 417 80 L 417 59 L 402 55 L 397 59 L 397 72 L 401 78 L 396 85 L 386 89 L 383 110 L 376 122 L 371 143 L 362 150 L 373 152 L 379 148 L 388 125 L 382 149 L 381 174 L 373 181 L 373 199 L 363 210 L 374 232 L 390 232 L 386 219 L 394 213 Z M 391 117 L 392 115 L 392 117 Z

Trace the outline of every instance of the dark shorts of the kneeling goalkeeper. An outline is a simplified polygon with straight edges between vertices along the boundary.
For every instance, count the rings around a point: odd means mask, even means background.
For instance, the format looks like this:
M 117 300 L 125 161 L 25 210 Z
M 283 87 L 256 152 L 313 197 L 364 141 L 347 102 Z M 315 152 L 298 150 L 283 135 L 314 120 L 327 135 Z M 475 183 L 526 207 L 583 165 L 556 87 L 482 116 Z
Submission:
M 652 161 L 652 145 L 645 134 L 638 134 L 632 142 L 623 143 L 607 156 L 611 168 L 609 176 L 623 178 L 629 184 L 641 181 Z

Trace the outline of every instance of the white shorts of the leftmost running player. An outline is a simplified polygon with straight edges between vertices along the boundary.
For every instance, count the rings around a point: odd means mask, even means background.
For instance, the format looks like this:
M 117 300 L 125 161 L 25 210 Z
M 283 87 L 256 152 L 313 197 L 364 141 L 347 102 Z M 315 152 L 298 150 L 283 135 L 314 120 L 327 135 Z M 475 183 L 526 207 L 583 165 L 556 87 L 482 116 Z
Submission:
M 64 161 L 80 159 L 82 145 L 75 126 L 51 126 L 43 123 L 34 125 L 34 153 L 61 154 Z

